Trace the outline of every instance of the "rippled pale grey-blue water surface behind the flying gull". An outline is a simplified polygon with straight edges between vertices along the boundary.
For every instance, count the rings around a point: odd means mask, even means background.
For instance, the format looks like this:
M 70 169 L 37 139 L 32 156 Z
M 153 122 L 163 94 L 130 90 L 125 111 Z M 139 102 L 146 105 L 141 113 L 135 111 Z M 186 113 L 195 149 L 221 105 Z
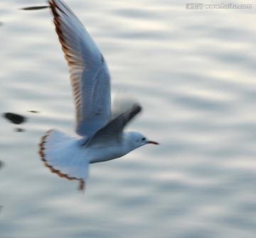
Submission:
M 85 194 L 51 174 L 38 142 L 74 133 L 68 67 L 49 11 L 18 10 L 44 1 L 1 1 L 1 113 L 28 119 L 0 118 L 1 237 L 255 237 L 254 1 L 67 3 L 144 107 L 128 129 L 161 145 L 93 164 Z

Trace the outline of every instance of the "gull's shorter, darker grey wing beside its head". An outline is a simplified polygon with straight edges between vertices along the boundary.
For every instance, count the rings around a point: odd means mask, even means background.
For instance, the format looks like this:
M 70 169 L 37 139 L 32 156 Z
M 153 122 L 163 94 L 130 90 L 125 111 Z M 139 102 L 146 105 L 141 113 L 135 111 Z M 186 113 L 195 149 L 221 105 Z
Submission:
M 120 142 L 122 140 L 122 131 L 124 130 L 124 127 L 140 111 L 142 111 L 142 107 L 138 104 L 134 104 L 128 111 L 117 116 L 117 118 L 111 120 L 110 123 L 107 123 L 104 128 L 98 130 L 85 146 Z

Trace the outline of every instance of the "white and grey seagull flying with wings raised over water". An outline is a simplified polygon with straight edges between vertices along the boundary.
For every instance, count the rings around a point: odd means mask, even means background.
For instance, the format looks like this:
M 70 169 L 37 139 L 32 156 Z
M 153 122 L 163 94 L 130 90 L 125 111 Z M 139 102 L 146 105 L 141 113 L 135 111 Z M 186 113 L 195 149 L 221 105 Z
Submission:
M 68 61 L 77 135 L 70 137 L 59 130 L 48 130 L 41 138 L 39 154 L 50 171 L 65 179 L 78 180 L 79 189 L 84 190 L 89 164 L 106 162 L 143 145 L 159 143 L 139 132 L 124 132 L 127 123 L 142 107 L 133 103 L 126 111 L 114 115 L 105 58 L 63 1 L 49 0 L 48 3 Z

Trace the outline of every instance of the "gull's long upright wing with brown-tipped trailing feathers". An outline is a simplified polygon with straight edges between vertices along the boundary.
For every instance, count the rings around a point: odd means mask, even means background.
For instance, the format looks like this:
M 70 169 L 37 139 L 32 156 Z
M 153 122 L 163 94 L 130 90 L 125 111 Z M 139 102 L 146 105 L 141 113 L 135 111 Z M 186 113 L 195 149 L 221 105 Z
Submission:
M 77 16 L 60 0 L 49 0 L 55 30 L 68 61 L 75 98 L 76 132 L 91 136 L 111 118 L 107 64 Z

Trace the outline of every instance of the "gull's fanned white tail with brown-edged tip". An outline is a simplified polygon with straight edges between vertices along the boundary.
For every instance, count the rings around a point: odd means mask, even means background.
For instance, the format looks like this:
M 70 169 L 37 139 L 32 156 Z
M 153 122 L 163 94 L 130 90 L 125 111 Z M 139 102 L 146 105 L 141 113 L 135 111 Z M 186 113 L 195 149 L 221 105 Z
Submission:
M 87 178 L 88 161 L 83 157 L 79 139 L 58 130 L 49 130 L 39 144 L 39 154 L 44 164 L 61 178 L 80 181 L 83 189 Z

